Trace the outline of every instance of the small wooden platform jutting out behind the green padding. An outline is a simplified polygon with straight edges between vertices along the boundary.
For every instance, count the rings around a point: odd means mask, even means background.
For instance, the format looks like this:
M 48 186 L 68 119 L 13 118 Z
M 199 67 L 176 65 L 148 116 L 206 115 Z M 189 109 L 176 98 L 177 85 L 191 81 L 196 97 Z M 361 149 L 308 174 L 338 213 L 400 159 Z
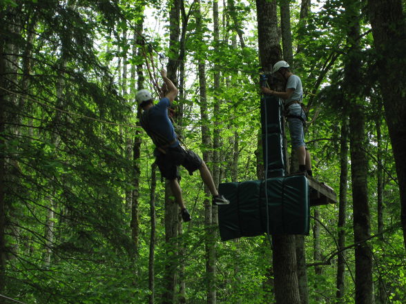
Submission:
M 310 191 L 310 206 L 327 205 L 337 203 L 337 194 L 334 189 L 325 183 L 320 183 L 312 176 L 307 173 L 295 173 L 289 174 L 293 175 L 305 175 L 307 181 L 309 181 L 309 191 Z

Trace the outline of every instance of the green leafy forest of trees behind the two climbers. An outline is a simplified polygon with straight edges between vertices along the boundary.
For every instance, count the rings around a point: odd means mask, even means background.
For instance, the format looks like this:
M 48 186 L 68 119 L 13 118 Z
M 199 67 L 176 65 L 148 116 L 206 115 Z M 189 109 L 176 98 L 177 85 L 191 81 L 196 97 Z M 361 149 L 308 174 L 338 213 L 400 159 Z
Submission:
M 1 0 L 0 303 L 406 303 L 405 4 Z M 259 71 L 280 59 L 338 203 L 309 236 L 221 242 L 185 171 L 181 223 L 135 92 L 166 68 L 215 183 L 260 179 Z

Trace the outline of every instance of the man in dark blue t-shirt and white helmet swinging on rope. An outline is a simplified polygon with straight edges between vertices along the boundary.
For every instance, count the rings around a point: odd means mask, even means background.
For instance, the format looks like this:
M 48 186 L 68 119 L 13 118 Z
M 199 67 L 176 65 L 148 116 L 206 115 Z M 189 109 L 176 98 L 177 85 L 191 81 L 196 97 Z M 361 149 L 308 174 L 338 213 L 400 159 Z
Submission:
M 191 215 L 186 209 L 182 198 L 182 189 L 179 184 L 179 165 L 186 168 L 191 175 L 196 170 L 200 171 L 202 181 L 213 195 L 213 205 L 226 205 L 230 202 L 218 193 L 209 168 L 207 168 L 206 163 L 204 163 L 200 156 L 192 150 L 184 149 L 180 145 L 173 123 L 168 116 L 168 107 L 172 105 L 173 100 L 177 96 L 177 88 L 168 79 L 165 70 L 161 70 L 161 76 L 164 80 L 164 86 L 162 89 L 159 89 L 161 99 L 157 104 L 154 105 L 153 97 L 148 90 L 139 90 L 135 98 L 139 107 L 144 110 L 140 118 L 141 126 L 155 144 L 155 162 L 160 169 L 162 177 L 169 181 L 175 201 L 180 205 L 183 221 L 188 222 L 191 221 Z

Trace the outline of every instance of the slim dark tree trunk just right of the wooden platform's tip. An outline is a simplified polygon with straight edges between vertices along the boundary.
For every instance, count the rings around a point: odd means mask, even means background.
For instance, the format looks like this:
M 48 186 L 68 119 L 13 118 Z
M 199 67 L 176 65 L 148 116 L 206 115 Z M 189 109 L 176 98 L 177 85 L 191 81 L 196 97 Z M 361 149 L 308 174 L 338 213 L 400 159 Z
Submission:
M 348 184 L 348 118 L 342 120 L 340 137 L 340 194 L 338 207 L 338 250 L 345 247 L 345 225 L 347 221 L 347 184 Z M 336 297 L 345 294 L 345 252 L 338 254 Z

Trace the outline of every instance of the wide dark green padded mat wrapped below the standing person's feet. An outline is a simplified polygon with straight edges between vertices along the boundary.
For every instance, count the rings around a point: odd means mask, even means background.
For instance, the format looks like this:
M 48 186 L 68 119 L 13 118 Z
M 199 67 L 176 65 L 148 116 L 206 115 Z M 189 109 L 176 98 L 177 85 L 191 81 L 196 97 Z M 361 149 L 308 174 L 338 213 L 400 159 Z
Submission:
M 218 210 L 222 241 L 265 232 L 309 234 L 309 185 L 305 176 L 222 183 L 219 192 L 230 201 Z

